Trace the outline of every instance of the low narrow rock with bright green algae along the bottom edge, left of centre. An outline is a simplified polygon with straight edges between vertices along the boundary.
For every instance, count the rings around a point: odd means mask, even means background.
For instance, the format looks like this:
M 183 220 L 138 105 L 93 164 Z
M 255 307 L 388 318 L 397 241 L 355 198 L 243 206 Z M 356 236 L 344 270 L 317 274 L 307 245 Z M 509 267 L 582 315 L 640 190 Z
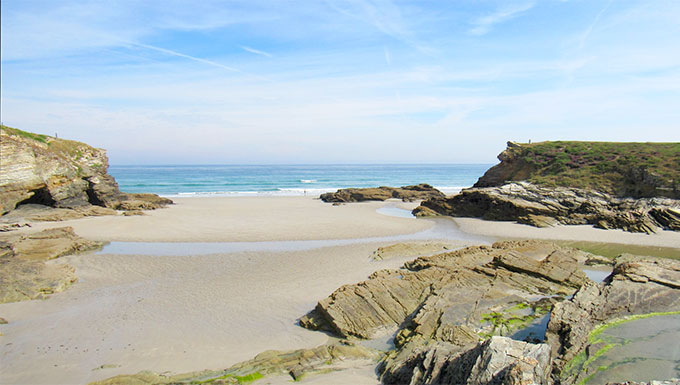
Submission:
M 348 341 L 330 342 L 312 349 L 299 349 L 287 352 L 268 350 L 255 358 L 238 363 L 219 371 L 164 376 L 151 372 L 134 375 L 121 375 L 95 382 L 98 385 L 114 384 L 174 384 L 174 383 L 222 383 L 240 384 L 272 375 L 290 375 L 294 381 L 301 378 L 333 370 L 342 370 L 347 362 L 376 362 L 382 353 Z

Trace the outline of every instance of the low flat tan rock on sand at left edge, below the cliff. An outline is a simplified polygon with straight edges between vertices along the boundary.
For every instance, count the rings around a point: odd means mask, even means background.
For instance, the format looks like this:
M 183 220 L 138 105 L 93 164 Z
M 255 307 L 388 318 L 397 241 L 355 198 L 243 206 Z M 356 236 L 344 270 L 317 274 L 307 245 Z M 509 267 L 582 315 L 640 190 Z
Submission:
M 101 242 L 77 236 L 71 227 L 0 236 L 0 303 L 43 298 L 63 291 L 76 280 L 73 267 L 45 261 L 102 246 Z

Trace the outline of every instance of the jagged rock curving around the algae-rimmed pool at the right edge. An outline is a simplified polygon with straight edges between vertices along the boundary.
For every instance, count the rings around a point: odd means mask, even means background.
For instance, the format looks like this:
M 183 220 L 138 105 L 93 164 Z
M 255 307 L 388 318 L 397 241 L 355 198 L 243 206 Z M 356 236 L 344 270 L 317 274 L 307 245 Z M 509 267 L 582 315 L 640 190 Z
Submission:
M 626 316 L 669 311 L 680 311 L 680 262 L 617 258 L 605 282 L 586 283 L 572 299 L 555 305 L 546 333 L 555 357 L 555 379 L 576 383 L 597 370 L 585 363 L 599 350 L 591 347 L 595 342 L 590 339 L 598 325 Z M 575 360 L 577 355 L 585 357 Z

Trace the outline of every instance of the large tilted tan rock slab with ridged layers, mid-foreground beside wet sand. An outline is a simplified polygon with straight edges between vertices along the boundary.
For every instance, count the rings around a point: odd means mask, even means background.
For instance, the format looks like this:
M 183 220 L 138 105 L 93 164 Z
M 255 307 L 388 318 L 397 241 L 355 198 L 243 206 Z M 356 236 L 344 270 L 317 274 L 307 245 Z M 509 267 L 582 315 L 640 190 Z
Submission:
M 541 250 L 542 255 L 527 249 Z M 421 257 L 401 270 L 381 270 L 366 281 L 342 286 L 319 301 L 300 324 L 346 337 L 374 338 L 394 332 L 411 317 L 411 331 L 427 337 L 439 333 L 444 338 L 448 325 L 484 333 L 483 313 L 507 310 L 532 295 L 568 295 L 586 281 L 577 259 L 561 249 L 566 248 L 501 242 Z

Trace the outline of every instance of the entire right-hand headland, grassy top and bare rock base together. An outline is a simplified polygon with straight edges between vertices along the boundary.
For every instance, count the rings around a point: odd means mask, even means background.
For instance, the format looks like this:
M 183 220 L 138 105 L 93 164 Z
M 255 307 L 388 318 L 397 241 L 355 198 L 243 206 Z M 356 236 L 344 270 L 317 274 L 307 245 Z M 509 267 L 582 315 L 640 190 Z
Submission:
M 498 159 L 472 188 L 413 213 L 680 231 L 680 143 L 508 142 Z

